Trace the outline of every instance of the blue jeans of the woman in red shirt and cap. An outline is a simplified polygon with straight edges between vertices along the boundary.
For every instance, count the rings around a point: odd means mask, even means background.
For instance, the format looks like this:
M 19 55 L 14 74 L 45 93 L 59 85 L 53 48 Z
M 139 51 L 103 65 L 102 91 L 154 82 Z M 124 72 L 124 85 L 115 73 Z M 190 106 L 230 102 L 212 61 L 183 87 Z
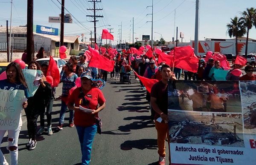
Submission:
M 93 138 L 97 131 L 97 125 L 81 127 L 76 125 L 82 152 L 82 165 L 89 165 L 92 152 Z

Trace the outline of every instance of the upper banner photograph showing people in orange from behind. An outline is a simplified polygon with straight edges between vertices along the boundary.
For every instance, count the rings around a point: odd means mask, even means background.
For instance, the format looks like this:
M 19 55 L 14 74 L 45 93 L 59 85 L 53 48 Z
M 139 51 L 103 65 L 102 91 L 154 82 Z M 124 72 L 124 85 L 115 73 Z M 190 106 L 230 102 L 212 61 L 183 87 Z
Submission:
M 176 81 L 169 83 L 168 97 L 172 109 L 241 113 L 238 81 Z

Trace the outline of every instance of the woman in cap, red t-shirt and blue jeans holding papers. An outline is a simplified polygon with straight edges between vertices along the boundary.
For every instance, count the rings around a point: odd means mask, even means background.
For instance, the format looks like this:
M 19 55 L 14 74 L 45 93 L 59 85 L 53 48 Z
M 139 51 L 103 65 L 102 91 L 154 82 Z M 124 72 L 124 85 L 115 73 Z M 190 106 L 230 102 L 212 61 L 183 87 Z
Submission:
M 99 117 L 98 113 L 105 108 L 106 101 L 102 91 L 93 86 L 92 80 L 92 77 L 87 72 L 82 73 L 81 87 L 73 91 L 67 105 L 68 108 L 75 110 L 74 124 L 76 125 L 81 145 L 83 165 L 88 165 L 90 162 L 93 138 L 97 131 L 95 117 Z M 90 109 L 91 112 L 80 110 L 80 105 Z

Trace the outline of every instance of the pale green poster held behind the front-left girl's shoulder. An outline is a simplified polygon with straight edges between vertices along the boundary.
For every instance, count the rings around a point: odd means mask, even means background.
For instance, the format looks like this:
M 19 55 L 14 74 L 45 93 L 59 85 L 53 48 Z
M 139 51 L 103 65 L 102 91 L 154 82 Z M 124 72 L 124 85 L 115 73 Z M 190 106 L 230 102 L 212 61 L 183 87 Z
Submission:
M 32 70 L 32 69 L 22 69 L 26 83 L 29 88 L 29 97 L 34 96 L 36 90 L 38 89 L 38 80 L 42 78 L 41 70 Z

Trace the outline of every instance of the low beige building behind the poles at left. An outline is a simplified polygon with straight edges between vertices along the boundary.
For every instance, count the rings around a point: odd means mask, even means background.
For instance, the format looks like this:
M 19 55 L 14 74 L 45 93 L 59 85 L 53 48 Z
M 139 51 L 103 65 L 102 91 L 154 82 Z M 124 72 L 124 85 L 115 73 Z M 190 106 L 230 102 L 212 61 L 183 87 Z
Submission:
M 12 46 L 15 51 L 24 51 L 26 49 L 26 26 L 12 27 Z M 58 48 L 60 46 L 59 35 L 38 34 L 34 33 L 34 47 L 35 51 L 39 51 L 44 47 L 45 55 L 52 55 L 58 57 Z M 6 43 L 6 27 L 0 27 L 0 43 Z M 5 44 L 3 44 L 5 45 Z M 78 36 L 64 36 L 64 46 L 67 47 L 67 54 L 79 53 L 79 39 Z

